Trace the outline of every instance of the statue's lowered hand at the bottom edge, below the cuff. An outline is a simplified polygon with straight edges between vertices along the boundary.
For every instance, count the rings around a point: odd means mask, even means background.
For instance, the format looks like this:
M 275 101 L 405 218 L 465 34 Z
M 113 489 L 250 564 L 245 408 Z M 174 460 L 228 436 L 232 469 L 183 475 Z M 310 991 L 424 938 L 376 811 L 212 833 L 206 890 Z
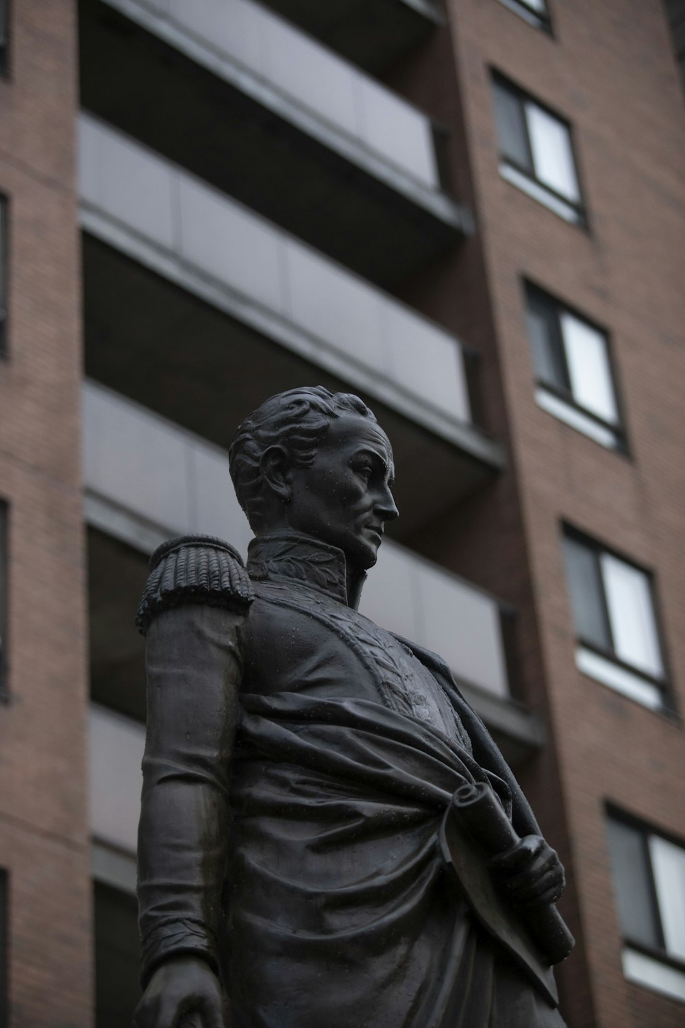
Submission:
M 132 1028 L 228 1028 L 219 979 L 197 957 L 172 957 L 150 979 Z

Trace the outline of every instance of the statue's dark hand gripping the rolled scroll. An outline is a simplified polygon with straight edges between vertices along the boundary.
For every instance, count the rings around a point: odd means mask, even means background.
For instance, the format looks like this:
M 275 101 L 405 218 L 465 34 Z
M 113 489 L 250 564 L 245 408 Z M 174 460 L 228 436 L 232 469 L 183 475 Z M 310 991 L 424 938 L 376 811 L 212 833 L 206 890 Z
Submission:
M 557 903 L 564 891 L 564 867 L 542 836 L 524 836 L 505 853 L 490 861 L 493 877 L 517 906 Z

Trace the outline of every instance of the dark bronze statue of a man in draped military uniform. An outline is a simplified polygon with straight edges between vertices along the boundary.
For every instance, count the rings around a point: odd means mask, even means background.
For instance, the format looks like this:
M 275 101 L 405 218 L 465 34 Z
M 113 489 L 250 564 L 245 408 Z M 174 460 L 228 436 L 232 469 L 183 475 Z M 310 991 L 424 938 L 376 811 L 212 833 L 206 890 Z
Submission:
M 291 390 L 230 463 L 246 568 L 220 540 L 170 540 L 139 614 L 135 1025 L 562 1026 L 550 961 L 536 982 L 517 927 L 561 894 L 557 854 L 446 664 L 356 610 L 397 517 L 385 433 L 357 397 Z M 453 839 L 459 878 L 446 811 L 473 787 L 517 842 L 484 872 Z M 484 874 L 508 937 L 479 916 Z

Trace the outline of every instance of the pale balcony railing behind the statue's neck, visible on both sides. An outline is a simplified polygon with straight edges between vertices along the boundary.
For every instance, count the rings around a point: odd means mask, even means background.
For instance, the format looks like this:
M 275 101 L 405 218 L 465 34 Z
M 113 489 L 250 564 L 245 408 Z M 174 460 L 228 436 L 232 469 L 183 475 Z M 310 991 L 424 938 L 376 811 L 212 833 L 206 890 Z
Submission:
M 160 537 L 202 531 L 246 553 L 252 531 L 225 451 L 93 382 L 83 400 L 93 498 L 157 526 Z M 459 681 L 508 697 L 500 605 L 468 583 L 386 540 L 361 612 L 440 653 Z

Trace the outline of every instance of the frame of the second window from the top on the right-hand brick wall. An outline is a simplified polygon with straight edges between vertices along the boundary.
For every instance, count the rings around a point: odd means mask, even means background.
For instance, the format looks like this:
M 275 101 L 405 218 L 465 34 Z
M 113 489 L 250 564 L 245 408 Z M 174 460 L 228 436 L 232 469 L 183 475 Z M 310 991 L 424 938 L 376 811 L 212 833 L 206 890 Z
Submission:
M 507 182 L 511 183 L 511 185 L 518 186 L 529 196 L 532 196 L 533 199 L 539 200 L 540 204 L 543 204 L 550 211 L 554 211 L 555 214 L 558 214 L 559 217 L 563 218 L 565 221 L 575 225 L 586 226 L 587 219 L 582 199 L 582 189 L 578 173 L 578 160 L 575 153 L 571 125 L 565 118 L 561 117 L 555 111 L 540 103 L 539 100 L 535 100 L 529 94 L 525 93 L 524 89 L 515 85 L 513 82 L 500 75 L 498 72 L 493 73 L 492 82 L 495 125 L 497 126 L 498 120 L 496 91 L 500 89 L 506 93 L 521 109 L 525 134 L 524 142 L 527 150 L 527 163 L 524 166 L 516 157 L 503 152 L 501 149 L 501 140 L 499 139 L 499 130 L 497 128 L 498 142 L 500 145 L 500 175 Z M 564 143 L 568 148 L 568 155 L 570 157 L 570 164 L 568 166 L 567 171 L 572 173 L 570 174 L 570 178 L 572 179 L 573 193 L 575 193 L 575 195 L 571 192 L 564 194 L 554 186 L 546 183 L 544 179 L 540 177 L 540 157 L 543 156 L 543 154 L 541 149 L 537 148 L 533 139 L 533 131 L 535 126 L 531 121 L 531 119 L 536 115 L 538 118 L 541 117 L 543 119 L 547 119 L 548 122 L 554 122 L 555 127 L 561 127 L 564 132 Z

